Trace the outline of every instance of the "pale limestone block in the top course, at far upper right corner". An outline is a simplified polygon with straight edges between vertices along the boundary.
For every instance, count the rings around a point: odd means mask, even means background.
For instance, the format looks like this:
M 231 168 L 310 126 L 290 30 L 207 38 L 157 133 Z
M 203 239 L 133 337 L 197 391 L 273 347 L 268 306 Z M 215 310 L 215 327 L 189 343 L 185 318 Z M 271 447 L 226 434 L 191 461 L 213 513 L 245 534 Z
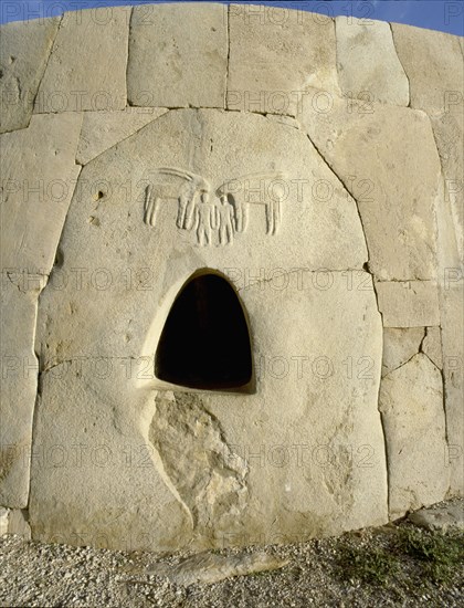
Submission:
M 409 78 L 411 107 L 430 115 L 463 112 L 463 55 L 458 36 L 392 23 L 394 46 Z

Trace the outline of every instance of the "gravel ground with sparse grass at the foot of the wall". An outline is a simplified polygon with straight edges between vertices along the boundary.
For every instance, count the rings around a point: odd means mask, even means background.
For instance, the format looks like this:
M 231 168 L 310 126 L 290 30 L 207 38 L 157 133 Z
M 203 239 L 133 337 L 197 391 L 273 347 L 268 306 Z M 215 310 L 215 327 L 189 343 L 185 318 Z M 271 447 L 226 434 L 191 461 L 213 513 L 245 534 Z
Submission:
M 431 532 L 402 521 L 339 537 L 264 547 L 288 558 L 281 570 L 230 578 L 213 585 L 177 586 L 147 575 L 148 565 L 179 564 L 189 553 L 161 556 L 0 538 L 0 605 L 39 607 L 382 607 L 464 606 L 463 563 L 453 566 L 446 583 L 433 581 L 424 563 L 398 548 L 401 531 L 414 531 L 426 541 Z M 456 538 L 454 533 L 454 538 Z M 449 535 L 446 535 L 447 537 Z M 463 541 L 461 534 L 457 538 Z M 382 583 L 367 581 L 350 570 L 347 555 L 394 555 L 399 569 Z M 223 549 L 221 555 L 263 551 L 263 547 Z M 372 554 L 373 552 L 373 554 Z M 369 563 L 370 558 L 366 558 Z M 383 557 L 382 557 L 383 559 Z M 361 559 L 363 563 L 363 557 Z M 377 562 L 375 569 L 382 569 Z M 377 565 L 376 565 L 377 564 Z M 376 570 L 376 572 L 377 572 Z M 379 570 L 379 572 L 380 572 Z

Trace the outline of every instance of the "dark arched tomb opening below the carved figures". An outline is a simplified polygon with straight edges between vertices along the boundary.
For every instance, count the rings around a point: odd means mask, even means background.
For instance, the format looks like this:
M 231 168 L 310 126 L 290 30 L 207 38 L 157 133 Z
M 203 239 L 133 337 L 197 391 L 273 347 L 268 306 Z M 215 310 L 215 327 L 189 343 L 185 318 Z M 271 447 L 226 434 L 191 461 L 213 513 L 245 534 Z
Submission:
M 155 375 L 190 388 L 250 392 L 252 367 L 249 327 L 234 289 L 218 274 L 193 275 L 169 312 Z

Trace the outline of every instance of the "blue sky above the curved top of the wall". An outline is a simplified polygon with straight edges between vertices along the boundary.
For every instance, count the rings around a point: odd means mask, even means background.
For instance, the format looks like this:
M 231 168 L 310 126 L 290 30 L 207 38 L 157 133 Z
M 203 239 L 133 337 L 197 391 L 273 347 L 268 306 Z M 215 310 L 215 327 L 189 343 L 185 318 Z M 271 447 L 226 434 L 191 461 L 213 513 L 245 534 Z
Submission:
M 167 1 L 169 0 L 159 0 L 159 2 Z M 240 0 L 235 1 L 240 2 Z M 154 2 L 152 0 L 0 0 L 0 23 L 53 17 L 61 14 L 64 10 L 78 8 L 144 3 Z M 242 0 L 241 3 L 292 7 L 334 17 L 351 14 L 464 35 L 464 0 L 299 0 L 291 2 Z

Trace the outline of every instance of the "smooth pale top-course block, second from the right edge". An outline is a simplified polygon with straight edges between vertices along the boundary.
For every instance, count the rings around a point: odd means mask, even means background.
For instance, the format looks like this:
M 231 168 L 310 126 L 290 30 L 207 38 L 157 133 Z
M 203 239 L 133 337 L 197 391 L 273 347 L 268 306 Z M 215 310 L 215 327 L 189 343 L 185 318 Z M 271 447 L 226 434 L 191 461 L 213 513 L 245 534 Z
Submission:
M 389 23 L 337 17 L 335 31 L 344 95 L 407 106 L 408 76 L 394 50 Z

